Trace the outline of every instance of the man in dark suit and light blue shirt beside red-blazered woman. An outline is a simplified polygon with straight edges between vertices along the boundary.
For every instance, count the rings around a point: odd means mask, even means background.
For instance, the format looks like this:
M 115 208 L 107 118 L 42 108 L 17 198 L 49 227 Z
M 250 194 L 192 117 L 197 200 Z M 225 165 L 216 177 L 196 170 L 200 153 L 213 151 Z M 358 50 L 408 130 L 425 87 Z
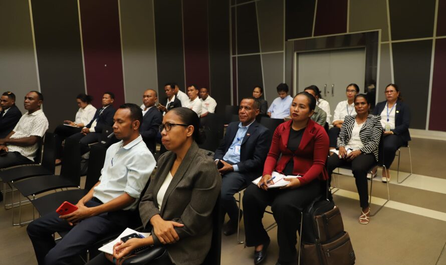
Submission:
M 259 112 L 260 104 L 257 100 L 242 99 L 240 122 L 228 125 L 225 138 L 215 151 L 214 159 L 222 175 L 221 210 L 230 217 L 223 231 L 226 235 L 235 233 L 239 222 L 234 194 L 262 175 L 270 148 L 271 132 L 256 121 Z

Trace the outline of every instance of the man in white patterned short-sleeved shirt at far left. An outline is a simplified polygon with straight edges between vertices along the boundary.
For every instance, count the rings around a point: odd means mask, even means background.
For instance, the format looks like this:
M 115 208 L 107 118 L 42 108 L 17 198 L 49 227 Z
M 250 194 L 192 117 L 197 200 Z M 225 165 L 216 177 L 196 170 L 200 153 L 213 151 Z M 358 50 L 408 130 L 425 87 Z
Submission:
M 22 115 L 16 127 L 0 139 L 0 168 L 34 163 L 39 141 L 48 129 L 48 119 L 40 109 L 43 95 L 30 91 L 25 96 L 24 106 L 28 110 Z

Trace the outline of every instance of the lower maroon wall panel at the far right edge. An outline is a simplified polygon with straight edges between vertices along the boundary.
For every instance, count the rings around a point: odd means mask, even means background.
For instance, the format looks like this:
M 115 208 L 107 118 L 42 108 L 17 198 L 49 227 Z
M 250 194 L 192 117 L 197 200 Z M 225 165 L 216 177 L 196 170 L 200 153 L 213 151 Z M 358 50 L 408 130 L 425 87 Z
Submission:
M 429 129 L 446 131 L 446 38 L 435 41 L 435 58 L 433 61 L 432 94 L 430 99 Z

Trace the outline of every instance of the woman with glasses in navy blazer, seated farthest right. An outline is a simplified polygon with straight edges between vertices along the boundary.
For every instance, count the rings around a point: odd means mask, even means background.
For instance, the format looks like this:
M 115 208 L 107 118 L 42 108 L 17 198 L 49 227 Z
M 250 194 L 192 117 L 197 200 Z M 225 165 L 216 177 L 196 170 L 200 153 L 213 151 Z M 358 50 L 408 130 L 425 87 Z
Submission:
M 384 129 L 383 150 L 380 153 L 381 162 L 385 165 L 382 170 L 382 181 L 390 180 L 389 168 L 395 159 L 396 150 L 410 141 L 409 123 L 410 109 L 404 104 L 396 84 L 388 84 L 385 88 L 386 100 L 376 104 L 373 115 L 381 117 Z

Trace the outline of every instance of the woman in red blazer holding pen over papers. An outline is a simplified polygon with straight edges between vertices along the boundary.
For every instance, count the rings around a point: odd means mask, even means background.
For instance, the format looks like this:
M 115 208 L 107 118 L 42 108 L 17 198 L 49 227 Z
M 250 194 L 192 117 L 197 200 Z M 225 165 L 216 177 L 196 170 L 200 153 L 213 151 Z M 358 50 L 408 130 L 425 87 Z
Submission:
M 280 124 L 274 131 L 270 151 L 265 161 L 263 176 L 257 185 L 250 185 L 243 197 L 247 246 L 255 246 L 254 263 L 261 263 L 270 243 L 262 224 L 267 205 L 271 205 L 277 222 L 280 264 L 296 262 L 296 231 L 300 221 L 298 208 L 321 194 L 321 186 L 328 179 L 325 168 L 328 135 L 324 127 L 310 119 L 316 99 L 308 92 L 298 93 L 291 104 L 292 120 Z M 284 178 L 289 183 L 282 188 L 268 188 L 279 179 L 271 180 L 272 172 L 299 175 Z

